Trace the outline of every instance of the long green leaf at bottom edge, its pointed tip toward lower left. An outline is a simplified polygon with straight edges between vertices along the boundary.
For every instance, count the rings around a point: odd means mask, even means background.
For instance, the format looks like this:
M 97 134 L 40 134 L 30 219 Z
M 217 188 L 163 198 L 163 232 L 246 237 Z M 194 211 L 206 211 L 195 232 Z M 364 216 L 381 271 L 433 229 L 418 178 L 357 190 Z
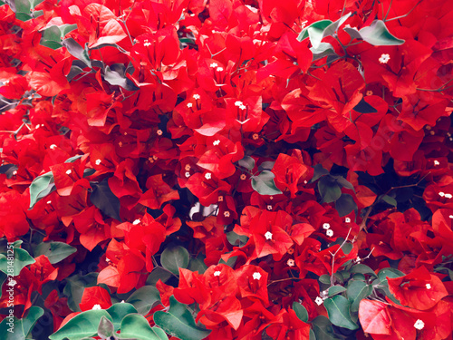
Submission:
M 111 320 L 111 316 L 103 309 L 87 310 L 72 317 L 63 327 L 49 336 L 51 340 L 80 340 L 82 337 L 97 335 L 101 318 Z

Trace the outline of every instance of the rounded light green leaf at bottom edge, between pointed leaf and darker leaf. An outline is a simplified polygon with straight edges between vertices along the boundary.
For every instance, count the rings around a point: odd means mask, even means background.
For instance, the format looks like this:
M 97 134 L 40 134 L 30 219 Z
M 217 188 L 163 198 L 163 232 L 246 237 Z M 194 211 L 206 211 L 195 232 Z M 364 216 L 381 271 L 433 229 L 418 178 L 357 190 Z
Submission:
M 125 316 L 121 322 L 121 337 L 131 337 L 140 340 L 164 340 L 169 337 L 157 328 L 150 327 L 148 320 L 140 314 Z

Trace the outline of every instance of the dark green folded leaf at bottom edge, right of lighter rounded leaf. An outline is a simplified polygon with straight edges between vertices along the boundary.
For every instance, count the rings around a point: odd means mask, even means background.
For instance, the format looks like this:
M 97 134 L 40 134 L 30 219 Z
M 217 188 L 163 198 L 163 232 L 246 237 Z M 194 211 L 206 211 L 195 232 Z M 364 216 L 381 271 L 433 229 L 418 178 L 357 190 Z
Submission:
M 169 312 L 157 311 L 154 313 L 154 322 L 169 335 L 177 336 L 181 340 L 201 340 L 209 335 L 210 331 L 199 328 L 186 305 L 179 303 L 175 296 L 169 297 Z

